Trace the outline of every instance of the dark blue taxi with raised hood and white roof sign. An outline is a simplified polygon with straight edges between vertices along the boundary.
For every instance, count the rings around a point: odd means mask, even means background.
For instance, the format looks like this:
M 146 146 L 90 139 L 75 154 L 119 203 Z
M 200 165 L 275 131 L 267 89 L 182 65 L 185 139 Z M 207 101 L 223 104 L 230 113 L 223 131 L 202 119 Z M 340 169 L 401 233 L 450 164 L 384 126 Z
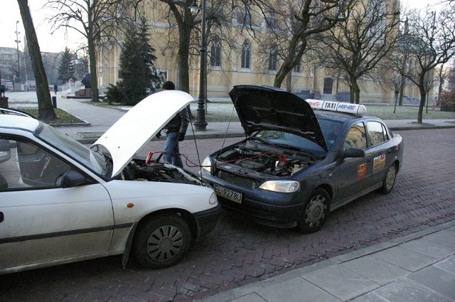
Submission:
M 402 137 L 365 106 L 259 85 L 235 86 L 230 97 L 246 139 L 205 158 L 202 171 L 226 210 L 311 233 L 331 210 L 394 187 Z

